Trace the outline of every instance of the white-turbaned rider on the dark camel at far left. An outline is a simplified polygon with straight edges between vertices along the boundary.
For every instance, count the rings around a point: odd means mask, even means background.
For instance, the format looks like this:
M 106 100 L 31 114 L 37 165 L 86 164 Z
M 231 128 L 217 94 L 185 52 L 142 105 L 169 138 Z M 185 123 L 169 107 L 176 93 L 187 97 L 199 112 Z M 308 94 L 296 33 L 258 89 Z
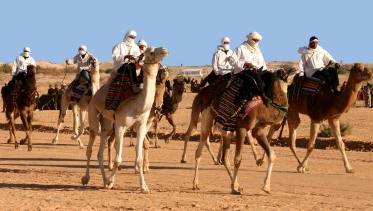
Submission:
M 13 78 L 9 82 L 9 85 L 14 84 L 13 95 L 16 96 L 20 90 L 26 86 L 26 73 L 27 66 L 33 65 L 36 67 L 34 58 L 30 56 L 31 49 L 29 47 L 23 48 L 23 53 L 21 53 L 13 63 L 12 75 Z M 19 84 L 22 82 L 22 84 Z

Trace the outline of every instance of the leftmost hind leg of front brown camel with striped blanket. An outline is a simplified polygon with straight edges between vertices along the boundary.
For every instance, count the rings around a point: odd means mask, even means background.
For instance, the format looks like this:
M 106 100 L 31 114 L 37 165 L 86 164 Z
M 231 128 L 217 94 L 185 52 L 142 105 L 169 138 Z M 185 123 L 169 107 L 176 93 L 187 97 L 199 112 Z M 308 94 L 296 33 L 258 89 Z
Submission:
M 201 135 L 198 143 L 198 147 L 196 150 L 195 154 L 195 172 L 194 172 L 194 180 L 193 180 L 193 190 L 199 190 L 199 179 L 198 179 L 198 169 L 199 169 L 199 163 L 201 161 L 202 157 L 202 149 L 203 146 L 207 144 L 210 133 L 211 133 L 211 128 L 213 124 L 213 117 L 210 112 L 211 109 L 205 109 L 202 112 L 202 119 L 201 119 Z

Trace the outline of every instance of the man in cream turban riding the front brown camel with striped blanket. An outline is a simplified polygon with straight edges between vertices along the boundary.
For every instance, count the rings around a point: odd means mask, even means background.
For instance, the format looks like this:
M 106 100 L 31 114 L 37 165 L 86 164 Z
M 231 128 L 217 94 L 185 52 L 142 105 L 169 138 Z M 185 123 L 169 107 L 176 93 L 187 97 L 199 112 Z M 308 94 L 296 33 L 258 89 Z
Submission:
M 229 61 L 234 67 L 234 74 L 240 73 L 244 69 L 259 69 L 267 70 L 267 65 L 264 61 L 264 57 L 259 48 L 259 41 L 262 40 L 262 36 L 258 32 L 251 32 L 246 35 L 247 40 L 238 46 Z M 263 83 L 260 75 L 256 71 L 250 71 L 251 77 L 257 84 L 258 91 L 264 102 L 268 107 L 271 99 L 268 98 L 263 90 Z

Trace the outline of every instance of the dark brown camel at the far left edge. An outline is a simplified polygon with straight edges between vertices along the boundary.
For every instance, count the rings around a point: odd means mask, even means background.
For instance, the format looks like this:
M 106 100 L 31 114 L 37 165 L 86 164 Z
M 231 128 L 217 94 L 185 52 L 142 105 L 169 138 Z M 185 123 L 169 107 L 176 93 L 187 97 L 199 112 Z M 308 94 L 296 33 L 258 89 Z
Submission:
M 34 115 L 34 109 L 36 106 L 36 80 L 35 80 L 36 67 L 33 65 L 27 66 L 26 86 L 24 90 L 20 90 L 15 100 L 13 100 L 13 89 L 16 84 L 2 89 L 3 102 L 6 108 L 6 118 L 9 124 L 9 135 L 10 138 L 8 143 L 15 143 L 15 148 L 18 148 L 18 142 L 16 139 L 16 127 L 15 120 L 20 116 L 23 126 L 25 127 L 26 137 L 20 141 L 20 144 L 24 144 L 27 141 L 28 151 L 32 151 L 31 133 L 32 133 L 32 118 Z

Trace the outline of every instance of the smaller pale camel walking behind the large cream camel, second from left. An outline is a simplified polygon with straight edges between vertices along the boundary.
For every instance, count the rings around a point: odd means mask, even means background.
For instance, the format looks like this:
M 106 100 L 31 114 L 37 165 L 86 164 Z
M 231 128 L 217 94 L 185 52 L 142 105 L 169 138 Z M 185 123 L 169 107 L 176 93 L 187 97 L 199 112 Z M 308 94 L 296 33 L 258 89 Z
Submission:
M 73 111 L 73 136 L 71 136 L 71 139 L 74 141 L 77 141 L 79 144 L 79 148 L 83 149 L 84 144 L 80 140 L 80 136 L 84 132 L 84 120 L 86 113 L 88 111 L 88 104 L 91 100 L 92 96 L 96 94 L 98 88 L 100 87 L 100 65 L 97 59 L 92 60 L 92 68 L 90 71 L 91 76 L 91 82 L 92 82 L 92 95 L 87 95 L 88 92 L 87 88 L 84 86 L 84 93 L 82 94 L 79 103 L 75 101 L 70 101 L 70 98 L 73 94 L 72 86 L 69 86 L 67 90 L 62 94 L 61 97 L 61 109 L 60 114 L 58 116 L 58 122 L 57 122 L 57 132 L 56 136 L 53 138 L 52 143 L 57 144 L 59 140 L 59 133 L 61 129 L 61 125 L 64 122 L 67 110 L 69 109 L 69 106 L 72 107 Z

